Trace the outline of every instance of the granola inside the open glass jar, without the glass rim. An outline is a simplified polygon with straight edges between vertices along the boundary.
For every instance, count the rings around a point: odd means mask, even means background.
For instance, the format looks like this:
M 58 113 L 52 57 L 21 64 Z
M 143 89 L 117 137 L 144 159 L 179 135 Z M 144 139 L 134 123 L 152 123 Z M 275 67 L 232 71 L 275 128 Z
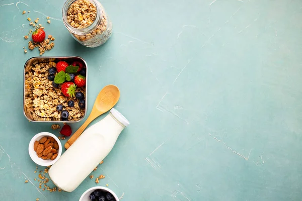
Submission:
M 99 3 L 98 3 L 99 4 Z M 100 4 L 102 8 L 102 5 Z M 96 28 L 83 35 L 72 33 L 72 35 L 83 43 L 83 45 L 95 47 L 105 43 L 111 36 L 112 25 L 108 22 L 104 9 L 101 9 L 102 19 Z M 97 8 L 88 0 L 78 0 L 70 5 L 67 10 L 67 22 L 73 28 L 87 28 L 96 20 Z

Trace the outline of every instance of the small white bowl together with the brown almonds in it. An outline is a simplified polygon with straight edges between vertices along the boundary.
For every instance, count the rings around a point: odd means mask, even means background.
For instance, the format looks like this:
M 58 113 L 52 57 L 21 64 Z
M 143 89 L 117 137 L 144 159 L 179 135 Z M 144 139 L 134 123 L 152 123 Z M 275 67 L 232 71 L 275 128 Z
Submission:
M 28 146 L 31 159 L 40 166 L 53 165 L 62 154 L 62 145 L 52 133 L 42 132 L 35 135 Z

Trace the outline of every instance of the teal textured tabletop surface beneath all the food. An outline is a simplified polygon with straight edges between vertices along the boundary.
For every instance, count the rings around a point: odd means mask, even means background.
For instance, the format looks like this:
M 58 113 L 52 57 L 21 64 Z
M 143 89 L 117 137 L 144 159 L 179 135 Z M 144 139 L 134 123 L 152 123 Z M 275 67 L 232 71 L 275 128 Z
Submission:
M 302 199 L 301 1 L 101 3 L 113 35 L 90 49 L 64 27 L 63 1 L 0 1 L 1 200 L 79 200 L 107 183 L 132 201 Z M 27 17 L 55 37 L 43 56 L 87 61 L 88 114 L 105 85 L 121 91 L 115 109 L 131 124 L 93 172 L 99 184 L 66 193 L 34 181 L 28 143 L 58 131 L 23 115 L 24 63 L 39 55 L 23 38 Z

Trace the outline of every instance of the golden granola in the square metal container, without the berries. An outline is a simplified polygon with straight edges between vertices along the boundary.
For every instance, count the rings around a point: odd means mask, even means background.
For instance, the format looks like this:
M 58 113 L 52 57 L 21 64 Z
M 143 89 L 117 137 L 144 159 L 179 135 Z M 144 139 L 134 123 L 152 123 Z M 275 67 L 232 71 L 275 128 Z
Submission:
M 60 121 L 56 107 L 61 104 L 69 113 L 68 121 L 80 120 L 85 109 L 80 109 L 79 100 L 64 96 L 60 88 L 54 88 L 52 81 L 47 79 L 48 69 L 55 65 L 53 61 L 36 61 L 25 69 L 25 113 L 35 121 Z M 85 94 L 85 87 L 77 91 Z M 74 107 L 68 107 L 69 100 L 74 101 Z

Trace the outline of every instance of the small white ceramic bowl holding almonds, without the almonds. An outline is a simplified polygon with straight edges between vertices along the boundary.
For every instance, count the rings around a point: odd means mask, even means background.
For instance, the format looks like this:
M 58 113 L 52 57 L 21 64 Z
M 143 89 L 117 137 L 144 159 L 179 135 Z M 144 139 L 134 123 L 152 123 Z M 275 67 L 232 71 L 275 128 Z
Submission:
M 54 160 L 44 160 L 42 158 L 39 158 L 37 156 L 37 153 L 35 152 L 34 150 L 34 143 L 35 141 L 39 141 L 41 138 L 43 138 L 44 136 L 47 136 L 47 137 L 53 137 L 58 145 L 59 145 L 59 150 L 58 150 L 58 156 L 54 159 Z M 28 152 L 29 152 L 29 155 L 31 157 L 31 159 L 38 165 L 40 166 L 48 166 L 48 165 L 53 165 L 61 156 L 62 154 L 62 145 L 61 145 L 61 142 L 60 140 L 55 136 L 53 135 L 52 133 L 48 133 L 48 132 L 42 132 L 42 133 L 38 133 L 37 135 L 35 135 L 30 143 L 29 143 L 29 146 L 28 146 Z

